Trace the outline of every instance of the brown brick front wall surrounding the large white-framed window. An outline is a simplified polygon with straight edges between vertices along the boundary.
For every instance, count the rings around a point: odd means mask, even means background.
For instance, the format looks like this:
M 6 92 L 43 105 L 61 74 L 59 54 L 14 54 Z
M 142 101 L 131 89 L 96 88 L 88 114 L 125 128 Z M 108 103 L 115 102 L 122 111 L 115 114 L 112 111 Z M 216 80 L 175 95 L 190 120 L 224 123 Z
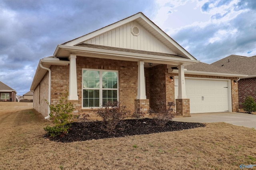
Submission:
M 119 78 L 119 101 L 128 110 L 134 111 L 134 100 L 137 96 L 138 64 L 137 62 L 117 61 L 109 59 L 96 59 L 90 57 L 76 58 L 78 100 L 71 100 L 74 105 L 74 115 L 96 115 L 91 109 L 82 109 L 82 69 L 118 70 Z M 69 65 L 52 66 L 51 103 L 57 104 L 61 92 L 69 89 Z

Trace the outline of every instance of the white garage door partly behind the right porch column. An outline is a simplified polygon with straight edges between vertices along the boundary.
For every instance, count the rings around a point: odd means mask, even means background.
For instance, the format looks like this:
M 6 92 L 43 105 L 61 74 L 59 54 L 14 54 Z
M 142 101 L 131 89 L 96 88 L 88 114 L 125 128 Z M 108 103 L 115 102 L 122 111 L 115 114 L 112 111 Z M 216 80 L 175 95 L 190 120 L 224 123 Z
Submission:
M 185 78 L 190 113 L 228 111 L 228 80 Z M 178 78 L 175 78 L 175 99 L 178 98 Z

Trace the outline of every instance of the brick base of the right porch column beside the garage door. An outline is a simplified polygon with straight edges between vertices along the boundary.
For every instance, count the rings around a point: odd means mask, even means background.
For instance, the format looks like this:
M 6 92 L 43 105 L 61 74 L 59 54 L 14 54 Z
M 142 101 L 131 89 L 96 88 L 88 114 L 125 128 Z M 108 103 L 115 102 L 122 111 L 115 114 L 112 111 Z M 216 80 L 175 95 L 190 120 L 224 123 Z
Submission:
M 175 117 L 191 117 L 189 99 L 176 99 Z

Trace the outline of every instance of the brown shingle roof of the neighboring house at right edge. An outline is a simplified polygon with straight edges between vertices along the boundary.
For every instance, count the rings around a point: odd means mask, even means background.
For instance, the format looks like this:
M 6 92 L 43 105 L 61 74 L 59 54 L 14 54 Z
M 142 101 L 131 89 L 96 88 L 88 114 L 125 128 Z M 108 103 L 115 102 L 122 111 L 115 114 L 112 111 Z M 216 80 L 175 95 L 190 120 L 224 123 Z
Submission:
M 216 61 L 211 65 L 218 66 L 219 68 L 226 68 L 234 70 L 242 74 L 256 75 L 256 56 L 245 57 L 239 55 L 230 55 L 224 59 Z

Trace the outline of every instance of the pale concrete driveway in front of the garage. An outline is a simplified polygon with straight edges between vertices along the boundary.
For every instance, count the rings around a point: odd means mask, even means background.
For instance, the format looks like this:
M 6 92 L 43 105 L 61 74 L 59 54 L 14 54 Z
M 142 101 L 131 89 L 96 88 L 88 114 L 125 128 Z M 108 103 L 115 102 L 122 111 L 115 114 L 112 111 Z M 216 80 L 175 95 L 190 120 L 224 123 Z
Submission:
M 211 122 L 226 122 L 232 125 L 254 127 L 256 128 L 256 115 L 237 112 L 220 112 L 220 113 L 196 113 L 190 114 L 191 117 L 176 117 L 174 121 L 183 122 L 198 122 L 198 123 L 211 123 Z

